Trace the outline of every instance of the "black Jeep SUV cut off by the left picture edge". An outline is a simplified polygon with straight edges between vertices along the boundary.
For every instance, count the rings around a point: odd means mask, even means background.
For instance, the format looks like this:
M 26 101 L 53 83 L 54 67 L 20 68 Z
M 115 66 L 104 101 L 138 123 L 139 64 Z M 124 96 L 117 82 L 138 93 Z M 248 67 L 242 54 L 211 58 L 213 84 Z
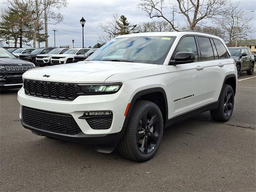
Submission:
M 31 62 L 20 60 L 4 48 L 0 48 L 0 89 L 22 87 L 22 74 L 35 68 Z

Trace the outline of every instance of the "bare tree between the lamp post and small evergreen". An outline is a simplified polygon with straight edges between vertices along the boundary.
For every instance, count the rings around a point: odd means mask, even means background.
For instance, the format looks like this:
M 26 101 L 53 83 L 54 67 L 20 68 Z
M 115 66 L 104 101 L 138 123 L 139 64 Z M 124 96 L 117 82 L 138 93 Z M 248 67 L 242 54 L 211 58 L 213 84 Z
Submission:
M 115 38 L 118 36 L 118 25 L 117 25 L 117 20 L 120 18 L 120 15 L 117 13 L 114 13 L 112 18 L 107 21 L 107 22 L 100 22 L 98 24 L 98 27 L 101 28 L 101 30 L 105 33 L 99 36 L 100 42 L 108 42 L 112 38 Z

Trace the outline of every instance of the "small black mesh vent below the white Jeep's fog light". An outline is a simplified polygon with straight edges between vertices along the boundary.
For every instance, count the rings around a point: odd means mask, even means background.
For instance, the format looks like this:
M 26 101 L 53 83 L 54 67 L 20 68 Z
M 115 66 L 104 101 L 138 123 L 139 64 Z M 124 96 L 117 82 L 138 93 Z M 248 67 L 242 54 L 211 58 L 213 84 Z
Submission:
M 103 130 L 109 129 L 112 124 L 113 115 L 98 115 L 98 116 L 90 116 L 90 118 L 86 118 L 86 122 L 92 129 Z

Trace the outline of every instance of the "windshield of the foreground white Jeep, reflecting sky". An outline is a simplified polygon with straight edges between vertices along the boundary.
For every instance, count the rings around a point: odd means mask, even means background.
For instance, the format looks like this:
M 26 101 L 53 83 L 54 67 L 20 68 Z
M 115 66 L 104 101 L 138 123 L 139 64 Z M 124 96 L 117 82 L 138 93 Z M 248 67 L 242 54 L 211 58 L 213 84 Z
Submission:
M 86 60 L 118 60 L 148 64 L 163 64 L 174 40 L 174 36 L 115 38 L 102 46 Z

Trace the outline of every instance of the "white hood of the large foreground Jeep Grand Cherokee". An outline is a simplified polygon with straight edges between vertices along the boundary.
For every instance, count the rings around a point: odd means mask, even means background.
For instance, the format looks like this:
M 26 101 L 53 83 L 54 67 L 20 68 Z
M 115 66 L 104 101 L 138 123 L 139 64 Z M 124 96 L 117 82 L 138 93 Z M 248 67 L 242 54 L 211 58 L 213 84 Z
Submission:
M 123 72 L 154 68 L 155 64 L 108 61 L 81 61 L 35 68 L 23 74 L 23 78 L 53 82 L 103 83 L 108 77 Z M 46 77 L 46 76 L 48 77 Z M 120 79 L 119 82 L 122 82 Z

